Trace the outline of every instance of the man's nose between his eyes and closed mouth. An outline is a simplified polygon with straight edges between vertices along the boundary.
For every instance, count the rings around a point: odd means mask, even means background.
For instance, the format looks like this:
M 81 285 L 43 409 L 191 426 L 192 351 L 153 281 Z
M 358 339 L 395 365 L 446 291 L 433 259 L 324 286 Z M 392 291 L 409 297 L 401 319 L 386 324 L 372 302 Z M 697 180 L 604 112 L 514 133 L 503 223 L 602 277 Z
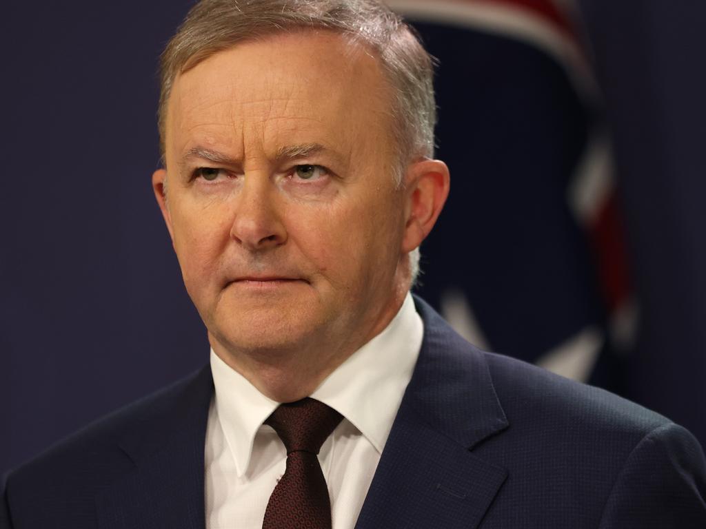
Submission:
M 246 250 L 267 250 L 287 241 L 276 193 L 267 176 L 246 175 L 230 230 L 231 238 Z

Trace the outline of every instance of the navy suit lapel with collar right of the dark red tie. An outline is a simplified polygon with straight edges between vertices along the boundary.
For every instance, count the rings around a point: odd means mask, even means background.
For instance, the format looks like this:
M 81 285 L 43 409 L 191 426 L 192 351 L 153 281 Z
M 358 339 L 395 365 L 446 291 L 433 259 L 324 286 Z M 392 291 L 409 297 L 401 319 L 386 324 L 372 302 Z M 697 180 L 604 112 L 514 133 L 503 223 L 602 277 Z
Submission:
M 481 353 L 426 303 L 424 342 L 357 529 L 472 529 L 507 472 L 472 449 L 508 421 Z

